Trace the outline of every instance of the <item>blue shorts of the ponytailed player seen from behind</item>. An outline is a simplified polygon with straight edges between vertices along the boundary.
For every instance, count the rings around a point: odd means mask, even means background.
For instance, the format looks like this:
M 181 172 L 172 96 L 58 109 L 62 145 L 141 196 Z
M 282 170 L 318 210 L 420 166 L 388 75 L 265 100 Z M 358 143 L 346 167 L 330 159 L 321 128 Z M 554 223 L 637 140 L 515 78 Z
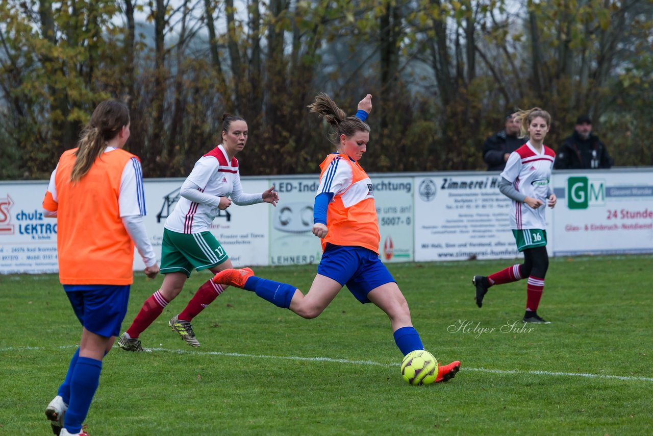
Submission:
M 127 314 L 130 285 L 65 284 L 77 319 L 82 326 L 96 335 L 118 336 Z

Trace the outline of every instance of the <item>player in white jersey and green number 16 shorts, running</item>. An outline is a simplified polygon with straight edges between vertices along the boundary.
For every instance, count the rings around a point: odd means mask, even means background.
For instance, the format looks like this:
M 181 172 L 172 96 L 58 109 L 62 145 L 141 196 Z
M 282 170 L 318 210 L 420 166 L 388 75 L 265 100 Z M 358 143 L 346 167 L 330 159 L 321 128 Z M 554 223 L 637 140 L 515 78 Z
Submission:
M 483 305 L 488 288 L 495 284 L 516 282 L 528 277 L 526 285 L 526 313 L 523 322 L 549 324 L 537 315 L 537 307 L 544 290 L 544 277 L 549 268 L 547 254 L 547 231 L 544 202 L 556 205 L 549 180 L 556 156 L 543 144 L 551 126 L 551 116 L 546 110 L 534 107 L 517 112 L 521 136 L 528 134 L 530 141 L 511 153 L 501 173 L 500 191 L 512 200 L 511 228 L 517 241 L 517 250 L 524 252 L 524 263 L 513 265 L 485 276 L 474 276 L 476 304 Z

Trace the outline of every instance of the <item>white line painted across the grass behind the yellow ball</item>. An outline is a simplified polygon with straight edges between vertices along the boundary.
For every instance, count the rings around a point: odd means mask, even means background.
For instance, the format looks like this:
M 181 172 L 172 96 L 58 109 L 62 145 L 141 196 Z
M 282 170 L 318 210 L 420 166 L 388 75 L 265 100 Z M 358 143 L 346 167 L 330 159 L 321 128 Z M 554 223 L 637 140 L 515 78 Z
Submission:
M 61 345 L 55 348 L 76 348 L 76 345 Z M 118 348 L 118 346 L 114 346 Z M 257 359 L 283 359 L 283 360 L 303 360 L 303 361 L 324 361 L 332 363 L 349 363 L 350 365 L 376 365 L 383 367 L 398 367 L 397 363 L 381 363 L 371 360 L 347 360 L 347 359 L 334 359 L 334 358 L 302 358 L 300 356 L 267 356 L 265 354 L 243 354 L 243 353 L 225 353 L 221 351 L 193 351 L 193 350 L 168 350 L 167 348 L 150 348 L 152 351 L 163 351 L 168 353 L 176 354 L 197 354 L 199 356 L 227 356 L 235 358 L 257 358 Z M 23 350 L 46 350 L 44 346 L 21 346 L 14 347 L 8 346 L 5 348 L 0 348 L 0 352 L 7 351 L 23 351 Z M 530 375 L 552 375 L 552 376 L 562 376 L 562 377 L 585 377 L 585 378 L 609 378 L 613 380 L 629 380 L 629 381 L 639 381 L 639 382 L 653 382 L 653 377 L 639 377 L 639 376 L 628 376 L 628 375 L 602 375 L 602 374 L 588 374 L 588 373 L 556 373 L 552 371 L 519 371 L 517 369 L 489 369 L 489 368 L 470 368 L 470 367 L 461 367 L 461 371 L 480 371 L 481 373 L 492 373 L 492 374 L 530 374 Z

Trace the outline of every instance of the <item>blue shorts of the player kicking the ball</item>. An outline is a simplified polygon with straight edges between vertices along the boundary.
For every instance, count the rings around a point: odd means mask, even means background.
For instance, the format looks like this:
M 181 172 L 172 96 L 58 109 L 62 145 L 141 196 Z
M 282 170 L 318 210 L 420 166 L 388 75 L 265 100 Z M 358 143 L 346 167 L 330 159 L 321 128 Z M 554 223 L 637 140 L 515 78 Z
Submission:
M 367 294 L 374 288 L 396 282 L 378 254 L 359 246 L 327 244 L 317 273 L 346 285 L 360 303 L 370 303 Z

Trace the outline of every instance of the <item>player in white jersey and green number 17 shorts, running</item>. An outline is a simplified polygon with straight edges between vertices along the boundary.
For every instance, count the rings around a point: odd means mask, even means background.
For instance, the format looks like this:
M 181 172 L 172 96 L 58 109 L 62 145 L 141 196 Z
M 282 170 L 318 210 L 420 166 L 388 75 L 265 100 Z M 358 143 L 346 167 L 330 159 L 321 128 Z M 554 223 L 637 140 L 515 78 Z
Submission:
M 276 206 L 279 195 L 274 186 L 263 193 L 244 193 L 240 185 L 236 153 L 247 143 L 247 123 L 238 116 L 222 118 L 222 144 L 202 156 L 180 190 L 180 199 L 168 216 L 163 229 L 161 288 L 153 293 L 136 315 L 131 326 L 118 339 L 118 346 L 127 351 L 149 351 L 140 344 L 140 333 L 163 312 L 182 291 L 191 271 L 209 269 L 213 274 L 233 268 L 227 252 L 209 231 L 218 210 L 236 205 L 270 203 Z M 231 196 L 231 199 L 228 197 Z M 168 324 L 186 343 L 200 346 L 191 320 L 223 292 L 225 287 L 207 280 L 191 301 Z

